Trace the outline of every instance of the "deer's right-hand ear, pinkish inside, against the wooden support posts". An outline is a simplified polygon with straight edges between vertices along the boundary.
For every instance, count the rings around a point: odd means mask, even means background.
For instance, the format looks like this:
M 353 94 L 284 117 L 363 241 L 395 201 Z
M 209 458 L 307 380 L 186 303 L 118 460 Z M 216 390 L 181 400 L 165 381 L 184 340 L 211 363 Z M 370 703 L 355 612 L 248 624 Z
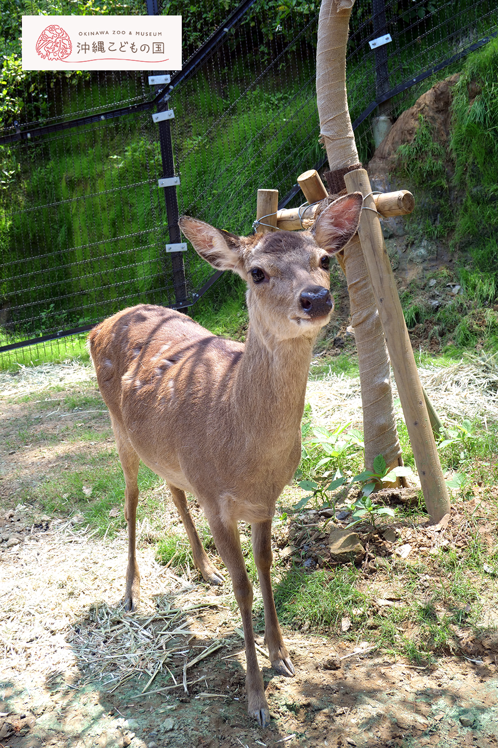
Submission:
M 355 236 L 362 206 L 361 192 L 345 194 L 330 203 L 311 229 L 317 245 L 330 254 L 342 249 Z

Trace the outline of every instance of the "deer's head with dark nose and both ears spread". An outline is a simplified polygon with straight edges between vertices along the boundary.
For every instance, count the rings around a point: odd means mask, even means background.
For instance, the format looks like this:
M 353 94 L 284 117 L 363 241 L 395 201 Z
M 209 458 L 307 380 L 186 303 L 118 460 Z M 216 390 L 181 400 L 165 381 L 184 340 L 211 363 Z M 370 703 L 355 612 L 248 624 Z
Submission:
M 300 232 L 236 236 L 186 215 L 179 224 L 204 260 L 246 281 L 249 319 L 260 334 L 314 337 L 334 308 L 330 256 L 354 236 L 362 205 L 360 192 L 339 197 Z

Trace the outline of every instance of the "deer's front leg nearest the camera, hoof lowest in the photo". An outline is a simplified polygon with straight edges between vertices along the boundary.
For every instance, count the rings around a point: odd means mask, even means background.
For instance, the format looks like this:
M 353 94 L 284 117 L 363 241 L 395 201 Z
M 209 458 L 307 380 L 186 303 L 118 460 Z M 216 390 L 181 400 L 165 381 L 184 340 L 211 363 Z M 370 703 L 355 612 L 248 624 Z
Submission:
M 264 695 L 263 675 L 258 666 L 252 628 L 252 585 L 246 571 L 246 562 L 240 548 L 237 523 L 226 525 L 220 518 L 208 517 L 214 542 L 231 576 L 234 595 L 240 608 L 246 644 L 246 692 L 248 711 L 261 727 L 270 724 L 270 709 Z

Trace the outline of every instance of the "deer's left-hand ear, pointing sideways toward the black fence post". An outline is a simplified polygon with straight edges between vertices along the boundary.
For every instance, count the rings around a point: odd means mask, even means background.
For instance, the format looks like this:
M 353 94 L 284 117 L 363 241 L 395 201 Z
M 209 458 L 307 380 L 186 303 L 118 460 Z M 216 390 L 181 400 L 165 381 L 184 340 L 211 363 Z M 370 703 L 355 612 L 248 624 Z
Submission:
M 190 215 L 182 215 L 178 225 L 203 260 L 217 270 L 231 270 L 246 280 L 240 237 L 215 229 Z

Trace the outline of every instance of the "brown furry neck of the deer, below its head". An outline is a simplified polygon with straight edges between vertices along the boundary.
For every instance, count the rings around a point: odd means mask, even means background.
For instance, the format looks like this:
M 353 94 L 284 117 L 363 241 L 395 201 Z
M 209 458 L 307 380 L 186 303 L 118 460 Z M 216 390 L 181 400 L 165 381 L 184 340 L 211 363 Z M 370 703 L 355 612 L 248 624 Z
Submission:
M 232 397 L 247 429 L 276 440 L 296 439 L 305 405 L 306 383 L 315 337 L 276 340 L 249 326 Z

